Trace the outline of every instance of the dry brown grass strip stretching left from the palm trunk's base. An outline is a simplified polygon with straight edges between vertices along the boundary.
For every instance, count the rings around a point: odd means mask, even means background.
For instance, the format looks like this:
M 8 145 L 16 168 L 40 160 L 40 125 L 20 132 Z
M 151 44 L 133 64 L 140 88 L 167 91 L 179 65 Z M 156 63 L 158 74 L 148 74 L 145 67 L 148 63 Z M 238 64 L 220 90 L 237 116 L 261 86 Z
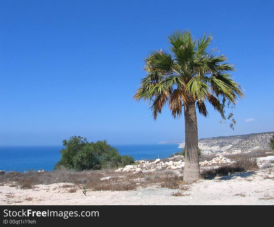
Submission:
M 100 180 L 106 176 L 111 178 Z M 77 187 L 86 187 L 92 191 L 127 191 L 149 185 L 158 185 L 158 187 L 164 188 L 179 188 L 183 184 L 182 180 L 182 176 L 177 176 L 174 171 L 170 170 L 149 173 L 118 173 L 111 169 L 81 172 L 59 170 L 26 174 L 10 172 L 0 176 L 1 183 L 12 183 L 15 187 L 19 186 L 22 189 L 32 189 L 36 184 L 67 183 L 60 186 L 60 188 L 70 188 L 69 192 L 76 191 Z

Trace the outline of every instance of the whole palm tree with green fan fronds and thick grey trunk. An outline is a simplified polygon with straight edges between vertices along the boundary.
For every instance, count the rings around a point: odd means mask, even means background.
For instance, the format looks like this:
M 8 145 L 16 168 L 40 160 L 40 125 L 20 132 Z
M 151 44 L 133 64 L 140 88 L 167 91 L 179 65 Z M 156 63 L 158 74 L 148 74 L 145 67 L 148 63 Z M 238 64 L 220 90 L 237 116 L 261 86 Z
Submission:
M 155 50 L 144 59 L 147 75 L 133 96 L 151 105 L 154 120 L 166 104 L 174 118 L 181 117 L 183 107 L 187 183 L 200 178 L 196 107 L 206 117 L 208 102 L 225 118 L 225 103 L 234 105 L 244 97 L 229 74 L 234 66 L 226 62 L 225 55 L 217 56 L 215 49 L 209 49 L 212 39 L 211 34 L 196 39 L 187 30 L 173 32 L 168 36 L 170 51 Z

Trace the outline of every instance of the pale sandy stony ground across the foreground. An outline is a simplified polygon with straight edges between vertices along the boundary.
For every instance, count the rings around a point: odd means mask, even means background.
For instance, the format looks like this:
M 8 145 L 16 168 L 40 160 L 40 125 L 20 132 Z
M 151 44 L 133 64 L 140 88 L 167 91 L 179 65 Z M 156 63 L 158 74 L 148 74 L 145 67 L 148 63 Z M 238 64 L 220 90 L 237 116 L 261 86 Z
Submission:
M 272 156 L 273 157 L 273 156 Z M 265 160 L 259 160 L 261 164 Z M 187 190 L 138 188 L 134 191 L 69 193 L 68 183 L 36 185 L 33 189 L 0 187 L 0 205 L 274 205 L 274 168 L 199 180 Z M 183 196 L 172 196 L 181 191 Z

